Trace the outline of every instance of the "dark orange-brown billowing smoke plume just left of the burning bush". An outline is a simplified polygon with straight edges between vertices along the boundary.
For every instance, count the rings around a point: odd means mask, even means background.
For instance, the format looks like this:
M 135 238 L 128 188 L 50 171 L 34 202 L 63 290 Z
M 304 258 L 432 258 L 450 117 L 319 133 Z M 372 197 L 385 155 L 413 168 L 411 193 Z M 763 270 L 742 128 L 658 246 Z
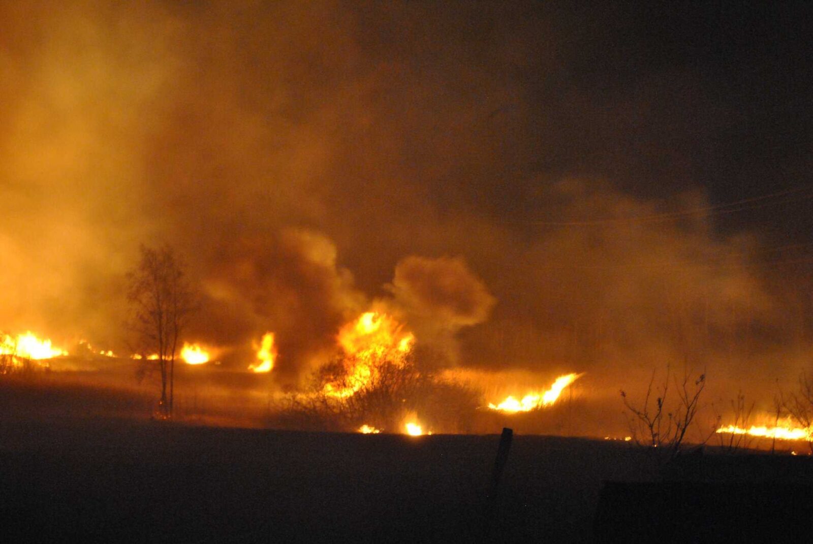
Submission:
M 215 345 L 247 348 L 272 331 L 280 350 L 275 375 L 295 382 L 333 350 L 341 324 L 367 309 L 353 276 L 336 259 L 327 237 L 293 228 L 224 247 L 205 280 L 213 311 L 203 308 L 192 333 Z M 251 356 L 238 349 L 231 359 L 239 366 Z

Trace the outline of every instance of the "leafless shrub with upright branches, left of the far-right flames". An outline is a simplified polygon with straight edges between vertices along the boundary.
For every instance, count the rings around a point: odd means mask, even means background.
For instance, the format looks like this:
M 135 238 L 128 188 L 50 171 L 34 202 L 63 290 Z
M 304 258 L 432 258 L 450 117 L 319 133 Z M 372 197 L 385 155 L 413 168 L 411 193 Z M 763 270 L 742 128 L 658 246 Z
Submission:
M 672 375 L 667 366 L 663 383 L 653 391 L 655 374 L 656 371 L 653 371 L 643 404 L 637 406 L 631 404 L 623 390 L 621 399 L 632 416 L 628 418 L 628 424 L 637 444 L 663 448 L 667 450 L 667 459 L 672 459 L 680 453 L 689 426 L 697 416 L 700 396 L 706 387 L 706 374 L 692 380 L 689 371 L 686 371 L 682 379 L 679 379 L 678 376 Z M 676 390 L 677 398 L 674 401 L 670 401 L 669 397 L 670 380 Z M 653 393 L 656 395 L 654 404 Z

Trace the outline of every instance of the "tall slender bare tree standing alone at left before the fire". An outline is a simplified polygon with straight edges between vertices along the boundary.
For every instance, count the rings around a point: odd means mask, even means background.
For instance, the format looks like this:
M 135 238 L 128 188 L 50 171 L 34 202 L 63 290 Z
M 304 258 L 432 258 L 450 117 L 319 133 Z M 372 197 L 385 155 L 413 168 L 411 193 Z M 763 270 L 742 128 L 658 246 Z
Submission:
M 169 246 L 141 246 L 141 261 L 128 273 L 127 298 L 132 311 L 129 326 L 136 335 L 142 364 L 157 365 L 161 375 L 157 415 L 170 418 L 178 340 L 193 311 L 193 297 L 183 265 Z

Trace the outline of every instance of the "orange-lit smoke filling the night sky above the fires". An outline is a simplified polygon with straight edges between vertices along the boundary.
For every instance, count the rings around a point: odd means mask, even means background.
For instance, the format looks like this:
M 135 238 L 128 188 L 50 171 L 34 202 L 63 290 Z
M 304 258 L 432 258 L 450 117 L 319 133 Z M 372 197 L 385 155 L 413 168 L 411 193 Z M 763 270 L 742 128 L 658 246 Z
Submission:
M 124 349 L 124 273 L 168 242 L 193 339 L 245 368 L 272 330 L 283 383 L 375 300 L 442 365 L 793 376 L 809 271 L 764 263 L 809 240 L 798 202 L 628 220 L 809 172 L 786 15 L 6 2 L 0 327 Z

